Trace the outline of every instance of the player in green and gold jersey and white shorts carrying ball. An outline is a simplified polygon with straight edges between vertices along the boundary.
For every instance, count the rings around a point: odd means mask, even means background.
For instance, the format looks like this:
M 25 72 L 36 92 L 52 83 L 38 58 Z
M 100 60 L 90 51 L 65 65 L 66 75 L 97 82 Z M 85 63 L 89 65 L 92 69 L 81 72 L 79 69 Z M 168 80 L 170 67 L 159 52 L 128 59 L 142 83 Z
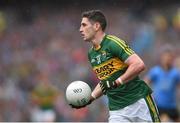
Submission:
M 82 13 L 80 33 L 92 44 L 88 58 L 100 80 L 88 104 L 104 94 L 108 97 L 109 122 L 159 122 L 152 91 L 138 77 L 145 69 L 144 62 L 125 41 L 106 34 L 106 25 L 101 11 Z

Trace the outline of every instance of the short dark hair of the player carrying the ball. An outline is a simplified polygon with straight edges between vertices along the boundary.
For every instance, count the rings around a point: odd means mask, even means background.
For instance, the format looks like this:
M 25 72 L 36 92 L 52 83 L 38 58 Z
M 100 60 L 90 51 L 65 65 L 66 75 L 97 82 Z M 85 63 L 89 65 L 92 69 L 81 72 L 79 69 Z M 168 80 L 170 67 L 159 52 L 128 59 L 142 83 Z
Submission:
M 82 17 L 86 17 L 93 22 L 99 22 L 102 30 L 105 31 L 107 26 L 106 17 L 100 10 L 85 11 L 82 13 Z

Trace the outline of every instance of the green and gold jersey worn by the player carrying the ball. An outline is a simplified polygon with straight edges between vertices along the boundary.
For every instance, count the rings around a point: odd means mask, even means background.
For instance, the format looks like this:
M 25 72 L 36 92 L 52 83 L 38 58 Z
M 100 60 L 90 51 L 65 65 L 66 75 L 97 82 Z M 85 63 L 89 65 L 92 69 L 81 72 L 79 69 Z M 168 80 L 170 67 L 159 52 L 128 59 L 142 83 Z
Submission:
M 113 35 L 105 35 L 100 48 L 89 50 L 88 58 L 100 81 L 111 82 L 127 70 L 128 65 L 124 61 L 132 54 L 134 51 L 123 40 Z M 145 82 L 137 76 L 126 84 L 107 91 L 109 109 L 124 108 L 151 92 Z

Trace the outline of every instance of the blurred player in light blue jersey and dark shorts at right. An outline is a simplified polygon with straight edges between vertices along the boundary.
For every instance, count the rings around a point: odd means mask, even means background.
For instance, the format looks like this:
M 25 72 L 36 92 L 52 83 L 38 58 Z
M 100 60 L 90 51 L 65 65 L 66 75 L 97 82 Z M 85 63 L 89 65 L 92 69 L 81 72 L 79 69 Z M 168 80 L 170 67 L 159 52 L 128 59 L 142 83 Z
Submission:
M 173 63 L 174 51 L 167 45 L 160 52 L 160 64 L 150 69 L 145 76 L 145 81 L 151 84 L 154 90 L 162 121 L 179 121 L 176 92 L 177 85 L 180 85 L 180 76 Z

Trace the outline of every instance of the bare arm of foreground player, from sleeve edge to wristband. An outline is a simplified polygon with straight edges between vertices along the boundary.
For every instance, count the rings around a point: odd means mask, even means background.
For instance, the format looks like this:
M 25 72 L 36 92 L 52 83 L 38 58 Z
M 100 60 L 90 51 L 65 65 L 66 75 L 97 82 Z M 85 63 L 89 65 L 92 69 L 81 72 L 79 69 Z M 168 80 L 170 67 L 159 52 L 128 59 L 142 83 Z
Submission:
M 118 85 L 132 80 L 145 69 L 144 62 L 137 54 L 129 56 L 127 60 L 125 60 L 125 63 L 128 65 L 128 68 L 126 72 L 116 80 Z

